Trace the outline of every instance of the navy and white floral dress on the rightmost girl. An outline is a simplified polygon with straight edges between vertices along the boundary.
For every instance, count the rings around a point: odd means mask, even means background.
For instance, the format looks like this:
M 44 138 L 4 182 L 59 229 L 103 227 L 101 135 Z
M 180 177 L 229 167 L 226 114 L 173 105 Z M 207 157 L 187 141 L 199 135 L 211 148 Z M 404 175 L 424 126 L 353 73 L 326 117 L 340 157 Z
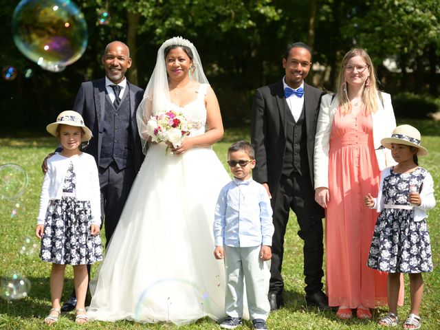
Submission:
M 395 173 L 385 177 L 385 204 L 409 206 L 409 187 L 421 184 L 428 171 L 417 168 L 412 173 Z M 377 218 L 368 265 L 391 273 L 417 274 L 432 272 L 430 237 L 426 219 L 414 221 L 414 208 L 384 208 Z

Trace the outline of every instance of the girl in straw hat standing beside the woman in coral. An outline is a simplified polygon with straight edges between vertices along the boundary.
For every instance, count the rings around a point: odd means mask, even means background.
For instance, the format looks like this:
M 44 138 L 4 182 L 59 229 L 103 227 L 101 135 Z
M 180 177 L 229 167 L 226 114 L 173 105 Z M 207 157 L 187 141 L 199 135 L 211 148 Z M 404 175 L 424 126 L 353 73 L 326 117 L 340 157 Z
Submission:
M 391 149 L 396 166 L 382 171 L 377 198 L 367 195 L 365 205 L 380 212 L 371 242 L 369 267 L 388 272 L 389 313 L 378 321 L 390 327 L 399 322 L 397 296 L 400 274 L 410 277 L 410 314 L 404 329 L 419 329 L 419 308 L 423 295 L 421 273 L 432 272 L 432 255 L 427 210 L 434 208 L 434 184 L 428 170 L 418 165 L 417 156 L 428 155 L 421 146 L 419 131 L 410 125 L 397 126 L 391 137 L 381 140 Z

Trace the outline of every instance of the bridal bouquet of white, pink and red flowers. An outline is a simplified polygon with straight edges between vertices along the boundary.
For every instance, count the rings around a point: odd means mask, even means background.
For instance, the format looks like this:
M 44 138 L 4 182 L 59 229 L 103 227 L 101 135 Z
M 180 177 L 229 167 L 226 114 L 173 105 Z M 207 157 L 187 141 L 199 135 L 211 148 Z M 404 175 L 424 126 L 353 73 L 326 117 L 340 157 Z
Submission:
M 191 125 L 183 113 L 174 110 L 152 115 L 146 123 L 146 133 L 153 142 L 170 142 L 175 148 L 189 135 L 190 128 Z

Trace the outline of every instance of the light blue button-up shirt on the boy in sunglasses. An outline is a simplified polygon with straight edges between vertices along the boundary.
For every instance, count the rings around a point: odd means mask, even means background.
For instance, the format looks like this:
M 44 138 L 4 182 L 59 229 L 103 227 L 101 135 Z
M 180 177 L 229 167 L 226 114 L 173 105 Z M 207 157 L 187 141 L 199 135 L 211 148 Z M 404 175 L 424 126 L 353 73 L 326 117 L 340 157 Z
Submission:
M 219 194 L 213 227 L 216 246 L 272 246 L 274 225 L 266 189 L 252 178 L 230 181 Z

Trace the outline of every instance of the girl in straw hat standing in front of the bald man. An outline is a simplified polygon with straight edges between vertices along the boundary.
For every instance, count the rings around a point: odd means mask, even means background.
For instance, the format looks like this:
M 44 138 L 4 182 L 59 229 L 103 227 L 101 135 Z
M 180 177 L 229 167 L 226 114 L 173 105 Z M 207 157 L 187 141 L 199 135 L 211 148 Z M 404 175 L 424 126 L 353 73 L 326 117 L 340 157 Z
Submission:
M 82 325 L 88 320 L 86 265 L 102 260 L 98 168 L 94 157 L 80 151 L 81 143 L 91 139 L 91 131 L 78 112 L 63 111 L 46 129 L 58 137 L 63 149 L 47 159 L 35 229 L 41 239 L 41 260 L 52 263 L 52 309 L 44 322 L 53 325 L 58 321 L 65 267 L 72 265 L 78 299 L 76 323 Z

